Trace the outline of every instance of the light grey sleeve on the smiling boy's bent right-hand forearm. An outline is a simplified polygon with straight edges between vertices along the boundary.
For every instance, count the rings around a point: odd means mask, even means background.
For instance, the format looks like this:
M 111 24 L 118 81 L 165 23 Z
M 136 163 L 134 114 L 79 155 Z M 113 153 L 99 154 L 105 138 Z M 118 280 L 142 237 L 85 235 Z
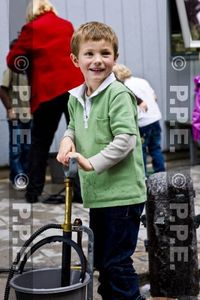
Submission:
M 136 136 L 130 134 L 116 135 L 114 140 L 100 153 L 89 158 L 97 173 L 116 165 L 123 160 L 136 145 Z

